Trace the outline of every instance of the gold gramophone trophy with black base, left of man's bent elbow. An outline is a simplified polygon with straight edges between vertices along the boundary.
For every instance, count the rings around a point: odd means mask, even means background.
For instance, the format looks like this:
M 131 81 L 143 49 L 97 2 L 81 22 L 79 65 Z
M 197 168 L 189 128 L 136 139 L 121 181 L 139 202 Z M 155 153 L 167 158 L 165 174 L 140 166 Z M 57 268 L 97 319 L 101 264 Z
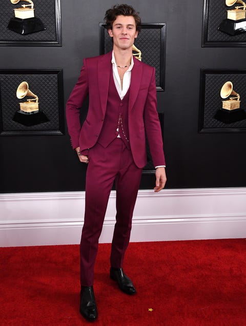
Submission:
M 45 113 L 39 111 L 38 97 L 30 91 L 27 82 L 22 82 L 19 84 L 16 90 L 16 97 L 18 99 L 32 97 L 33 99 L 27 99 L 25 102 L 19 103 L 19 110 L 15 112 L 13 121 L 23 124 L 25 126 L 33 126 L 39 123 L 49 121 Z

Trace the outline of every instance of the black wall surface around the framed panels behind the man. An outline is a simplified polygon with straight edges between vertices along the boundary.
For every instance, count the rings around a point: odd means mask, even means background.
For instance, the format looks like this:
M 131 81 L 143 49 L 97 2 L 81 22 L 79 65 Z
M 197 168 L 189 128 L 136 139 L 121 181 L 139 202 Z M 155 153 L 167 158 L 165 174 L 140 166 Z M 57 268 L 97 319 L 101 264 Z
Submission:
M 61 1 L 62 46 L 1 46 L 0 68 L 63 69 L 66 103 L 83 58 L 99 54 L 99 22 L 113 4 Z M 165 92 L 157 93 L 167 188 L 246 186 L 245 133 L 198 132 L 200 69 L 243 69 L 246 48 L 201 47 L 202 0 L 129 4 L 143 23 L 167 24 Z M 0 136 L 1 193 L 84 190 L 85 173 L 67 129 L 64 136 Z M 154 176 L 143 175 L 141 188 L 153 186 Z

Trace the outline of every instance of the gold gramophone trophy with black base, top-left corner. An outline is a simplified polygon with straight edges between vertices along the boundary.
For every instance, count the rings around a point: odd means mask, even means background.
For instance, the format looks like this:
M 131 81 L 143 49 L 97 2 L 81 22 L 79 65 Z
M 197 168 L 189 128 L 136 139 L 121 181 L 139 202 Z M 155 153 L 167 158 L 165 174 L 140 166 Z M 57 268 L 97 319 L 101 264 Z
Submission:
M 10 0 L 16 5 L 20 0 Z M 34 15 L 34 5 L 31 0 L 23 0 L 29 3 L 14 9 L 14 17 L 9 21 L 8 29 L 18 34 L 26 35 L 46 30 L 42 21 Z

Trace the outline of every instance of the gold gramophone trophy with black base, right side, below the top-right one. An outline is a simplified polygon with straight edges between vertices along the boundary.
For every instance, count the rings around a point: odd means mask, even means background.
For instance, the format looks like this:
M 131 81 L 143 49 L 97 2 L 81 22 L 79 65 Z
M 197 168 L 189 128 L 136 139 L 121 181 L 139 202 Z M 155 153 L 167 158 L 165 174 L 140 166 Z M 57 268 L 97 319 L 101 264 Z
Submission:
M 246 113 L 240 109 L 240 95 L 233 90 L 232 82 L 223 84 L 220 90 L 220 97 L 222 99 L 229 99 L 222 101 L 222 108 L 219 109 L 214 118 L 224 123 L 232 123 L 246 119 Z

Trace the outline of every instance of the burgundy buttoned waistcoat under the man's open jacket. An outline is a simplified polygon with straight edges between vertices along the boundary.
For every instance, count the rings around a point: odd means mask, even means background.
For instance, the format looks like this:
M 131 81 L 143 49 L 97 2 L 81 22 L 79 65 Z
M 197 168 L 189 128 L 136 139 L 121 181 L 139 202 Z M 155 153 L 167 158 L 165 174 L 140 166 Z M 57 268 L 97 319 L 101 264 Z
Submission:
M 97 140 L 97 142 L 103 147 L 106 148 L 118 136 L 118 132 L 116 131 L 118 128 L 120 138 L 124 141 L 127 148 L 130 149 L 128 132 L 128 102 L 129 89 L 121 100 L 115 87 L 113 72 L 111 70 L 104 125 Z M 121 117 L 121 121 L 119 121 L 119 117 Z

